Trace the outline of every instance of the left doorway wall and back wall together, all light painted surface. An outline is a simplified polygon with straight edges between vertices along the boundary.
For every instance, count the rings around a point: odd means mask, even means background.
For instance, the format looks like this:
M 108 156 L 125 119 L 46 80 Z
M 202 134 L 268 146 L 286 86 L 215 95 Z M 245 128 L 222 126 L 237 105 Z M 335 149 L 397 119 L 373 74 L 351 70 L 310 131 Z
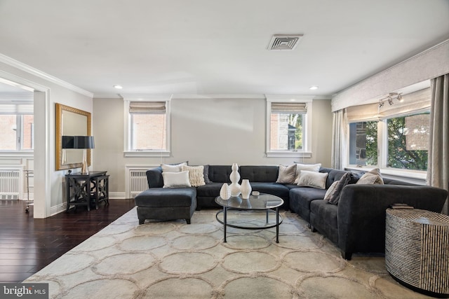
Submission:
M 92 114 L 95 149 L 93 167 L 110 174 L 110 191 L 125 194 L 126 165 L 160 165 L 189 160 L 191 165 L 288 165 L 293 161 L 321 162 L 330 167 L 332 113 L 330 100 L 314 100 L 312 157 L 267 158 L 263 99 L 173 99 L 169 158 L 123 157 L 123 99 L 95 99 L 88 92 L 58 80 L 46 80 L 18 65 L 0 62 L 0 76 L 34 87 L 34 217 L 46 218 L 63 210 L 67 170 L 55 170 L 55 103 Z M 39 73 L 39 72 L 38 72 Z M 76 171 L 76 169 L 73 169 Z

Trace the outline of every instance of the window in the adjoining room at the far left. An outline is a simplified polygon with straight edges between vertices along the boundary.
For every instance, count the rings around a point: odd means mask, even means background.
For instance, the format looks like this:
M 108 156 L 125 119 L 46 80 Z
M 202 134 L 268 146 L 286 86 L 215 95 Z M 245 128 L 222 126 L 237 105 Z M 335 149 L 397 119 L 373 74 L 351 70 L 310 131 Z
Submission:
M 33 104 L 0 104 L 0 151 L 34 149 Z

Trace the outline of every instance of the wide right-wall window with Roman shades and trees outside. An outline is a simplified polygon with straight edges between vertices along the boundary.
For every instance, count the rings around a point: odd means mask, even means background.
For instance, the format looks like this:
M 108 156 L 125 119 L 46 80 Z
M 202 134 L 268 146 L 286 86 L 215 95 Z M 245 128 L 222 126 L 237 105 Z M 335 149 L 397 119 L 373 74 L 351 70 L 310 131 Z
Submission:
M 379 167 L 390 174 L 420 178 L 427 170 L 430 129 L 429 88 L 395 99 L 346 109 L 349 167 Z M 401 172 L 398 172 L 401 169 Z

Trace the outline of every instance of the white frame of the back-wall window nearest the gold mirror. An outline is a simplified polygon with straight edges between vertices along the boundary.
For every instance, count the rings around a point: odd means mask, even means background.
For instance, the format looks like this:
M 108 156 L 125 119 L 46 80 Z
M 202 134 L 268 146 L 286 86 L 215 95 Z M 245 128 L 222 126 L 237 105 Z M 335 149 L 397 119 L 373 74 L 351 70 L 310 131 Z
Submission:
M 166 102 L 166 149 L 165 150 L 132 150 L 131 149 L 131 115 L 129 113 L 130 102 Z M 123 155 L 125 157 L 170 157 L 170 95 L 132 95 L 123 96 L 124 126 L 123 126 Z

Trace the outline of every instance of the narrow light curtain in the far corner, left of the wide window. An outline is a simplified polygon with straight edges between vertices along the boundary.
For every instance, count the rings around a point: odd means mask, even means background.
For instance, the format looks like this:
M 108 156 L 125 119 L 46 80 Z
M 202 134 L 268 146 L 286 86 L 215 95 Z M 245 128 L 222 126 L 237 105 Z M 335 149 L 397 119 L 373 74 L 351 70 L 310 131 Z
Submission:
M 332 126 L 332 155 L 331 166 L 335 169 L 344 169 L 347 165 L 347 136 L 348 124 L 346 109 L 333 113 Z

